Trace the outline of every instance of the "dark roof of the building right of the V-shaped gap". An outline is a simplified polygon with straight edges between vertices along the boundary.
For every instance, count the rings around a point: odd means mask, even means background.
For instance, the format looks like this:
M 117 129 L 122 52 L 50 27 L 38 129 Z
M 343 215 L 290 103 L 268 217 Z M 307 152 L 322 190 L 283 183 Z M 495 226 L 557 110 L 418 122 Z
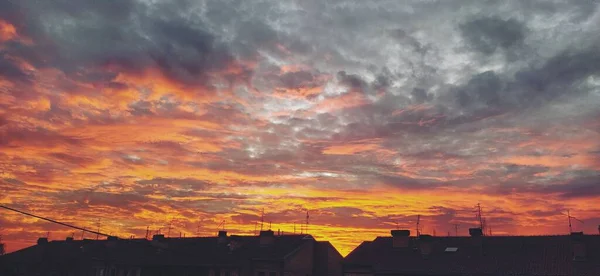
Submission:
M 346 268 L 368 266 L 378 274 L 411 275 L 600 275 L 600 236 L 580 236 L 585 260 L 573 260 L 571 236 L 430 237 L 410 238 L 408 248 L 394 248 L 392 237 L 363 242 L 344 260 Z M 457 248 L 456 251 L 447 248 Z M 454 251 L 454 252 L 452 252 Z

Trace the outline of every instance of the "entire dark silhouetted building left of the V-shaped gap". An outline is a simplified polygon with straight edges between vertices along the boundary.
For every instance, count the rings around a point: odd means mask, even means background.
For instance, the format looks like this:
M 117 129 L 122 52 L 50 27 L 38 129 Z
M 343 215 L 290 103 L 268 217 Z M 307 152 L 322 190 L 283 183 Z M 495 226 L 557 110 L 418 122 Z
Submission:
M 342 256 L 310 235 L 40 239 L 0 257 L 0 275 L 340 276 Z

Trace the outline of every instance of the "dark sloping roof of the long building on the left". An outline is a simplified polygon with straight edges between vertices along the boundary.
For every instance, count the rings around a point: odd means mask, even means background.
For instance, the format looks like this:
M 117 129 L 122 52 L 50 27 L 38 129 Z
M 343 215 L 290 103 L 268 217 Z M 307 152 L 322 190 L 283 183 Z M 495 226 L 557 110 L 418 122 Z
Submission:
M 314 239 L 310 235 L 274 236 L 268 246 L 261 245 L 258 236 L 229 236 L 222 241 L 218 237 L 51 241 L 7 254 L 2 261 L 233 266 L 249 260 L 283 260 Z

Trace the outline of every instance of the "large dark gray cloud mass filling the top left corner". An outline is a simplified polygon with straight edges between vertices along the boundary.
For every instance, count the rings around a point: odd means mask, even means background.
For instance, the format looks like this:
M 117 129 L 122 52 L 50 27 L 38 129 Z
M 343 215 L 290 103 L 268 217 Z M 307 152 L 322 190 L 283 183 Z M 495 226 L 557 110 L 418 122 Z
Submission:
M 82 68 L 110 65 L 141 73 L 157 66 L 168 78 L 203 84 L 206 73 L 234 62 L 216 34 L 202 22 L 181 15 L 189 6 L 185 2 L 146 5 L 137 1 L 80 1 L 71 5 L 65 1 L 24 1 L 16 5 L 14 8 L 20 8 L 29 20 L 28 28 L 37 28 L 32 32 L 36 45 L 16 44 L 13 50 L 28 53 L 26 57 L 38 66 L 51 62 L 69 76 L 83 75 L 87 81 L 94 81 L 98 73 L 82 74 Z M 39 53 L 50 56 L 42 62 L 35 59 Z

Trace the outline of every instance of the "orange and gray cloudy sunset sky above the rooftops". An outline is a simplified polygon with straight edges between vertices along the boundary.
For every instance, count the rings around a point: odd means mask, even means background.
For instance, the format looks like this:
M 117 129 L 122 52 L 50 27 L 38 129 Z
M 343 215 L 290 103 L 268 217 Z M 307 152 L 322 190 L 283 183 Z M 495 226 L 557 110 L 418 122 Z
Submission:
M 344 255 L 478 203 L 493 235 L 598 233 L 599 3 L 0 0 L 0 204 L 120 237 L 264 210 Z

